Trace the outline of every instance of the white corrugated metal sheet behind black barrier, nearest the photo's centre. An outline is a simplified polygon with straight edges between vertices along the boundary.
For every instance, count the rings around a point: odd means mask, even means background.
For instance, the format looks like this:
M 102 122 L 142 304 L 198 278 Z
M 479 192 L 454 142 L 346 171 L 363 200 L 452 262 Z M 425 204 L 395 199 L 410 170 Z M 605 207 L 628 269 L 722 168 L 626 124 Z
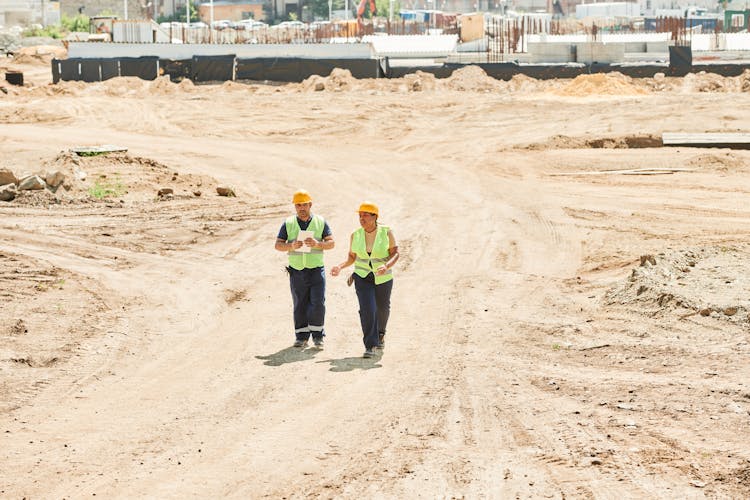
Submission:
M 448 57 L 456 50 L 457 35 L 368 35 L 363 42 L 372 44 L 378 57 L 430 58 Z

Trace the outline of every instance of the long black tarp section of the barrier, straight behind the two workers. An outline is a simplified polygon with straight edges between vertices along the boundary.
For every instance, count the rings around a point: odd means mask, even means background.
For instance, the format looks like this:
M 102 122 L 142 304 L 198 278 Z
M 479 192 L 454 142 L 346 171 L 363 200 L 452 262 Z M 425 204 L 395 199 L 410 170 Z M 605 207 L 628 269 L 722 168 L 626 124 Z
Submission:
M 303 59 L 256 58 L 237 59 L 238 80 L 301 82 L 312 75 L 328 76 L 334 68 L 347 69 L 354 78 L 383 76 L 377 59 Z

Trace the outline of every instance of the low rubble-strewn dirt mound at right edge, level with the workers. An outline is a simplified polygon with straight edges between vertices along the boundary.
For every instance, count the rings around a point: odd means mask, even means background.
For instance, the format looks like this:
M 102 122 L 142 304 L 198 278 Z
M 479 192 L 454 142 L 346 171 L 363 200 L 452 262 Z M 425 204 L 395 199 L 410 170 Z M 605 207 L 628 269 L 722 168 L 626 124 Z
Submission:
M 604 297 L 607 306 L 650 316 L 694 315 L 748 323 L 750 246 L 718 246 L 643 255 L 624 283 Z

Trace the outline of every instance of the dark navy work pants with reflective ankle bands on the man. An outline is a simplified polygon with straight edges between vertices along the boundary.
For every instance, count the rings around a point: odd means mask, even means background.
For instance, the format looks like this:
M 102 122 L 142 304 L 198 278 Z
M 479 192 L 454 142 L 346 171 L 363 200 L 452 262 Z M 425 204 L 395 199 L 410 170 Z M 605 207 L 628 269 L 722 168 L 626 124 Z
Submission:
M 322 267 L 292 269 L 289 271 L 289 288 L 294 304 L 294 335 L 297 340 L 323 338 L 326 317 L 326 273 Z

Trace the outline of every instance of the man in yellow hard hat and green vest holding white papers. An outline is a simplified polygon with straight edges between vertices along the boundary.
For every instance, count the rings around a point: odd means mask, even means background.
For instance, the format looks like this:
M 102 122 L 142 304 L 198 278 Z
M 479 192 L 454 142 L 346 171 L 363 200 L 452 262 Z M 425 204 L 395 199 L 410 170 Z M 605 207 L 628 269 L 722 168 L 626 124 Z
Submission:
M 289 257 L 287 271 L 294 304 L 294 346 L 304 349 L 312 336 L 315 347 L 322 349 L 326 315 L 323 250 L 333 248 L 333 235 L 325 219 L 310 211 L 310 193 L 298 190 L 292 196 L 292 203 L 296 214 L 281 225 L 276 250 L 287 252 Z

